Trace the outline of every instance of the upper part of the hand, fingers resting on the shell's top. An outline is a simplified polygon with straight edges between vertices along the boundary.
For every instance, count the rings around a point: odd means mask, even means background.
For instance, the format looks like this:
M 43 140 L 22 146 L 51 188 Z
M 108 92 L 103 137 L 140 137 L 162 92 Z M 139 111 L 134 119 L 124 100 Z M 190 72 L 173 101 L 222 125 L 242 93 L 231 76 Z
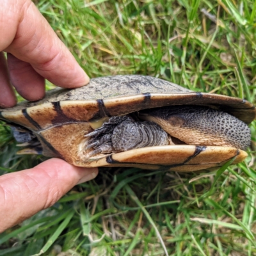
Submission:
M 44 97 L 45 78 L 65 88 L 89 82 L 31 0 L 2 0 L 0 31 L 0 108 L 16 104 L 11 83 L 22 97 L 34 101 Z

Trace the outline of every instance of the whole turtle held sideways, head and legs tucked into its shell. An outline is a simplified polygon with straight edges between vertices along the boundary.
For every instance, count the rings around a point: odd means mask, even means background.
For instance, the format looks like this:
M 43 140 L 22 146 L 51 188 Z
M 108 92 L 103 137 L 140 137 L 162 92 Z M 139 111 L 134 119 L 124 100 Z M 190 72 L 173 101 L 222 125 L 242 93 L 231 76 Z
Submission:
M 75 166 L 175 172 L 243 161 L 255 116 L 247 100 L 142 75 L 97 77 L 0 109 L 0 119 L 25 146 L 19 154 L 59 157 Z

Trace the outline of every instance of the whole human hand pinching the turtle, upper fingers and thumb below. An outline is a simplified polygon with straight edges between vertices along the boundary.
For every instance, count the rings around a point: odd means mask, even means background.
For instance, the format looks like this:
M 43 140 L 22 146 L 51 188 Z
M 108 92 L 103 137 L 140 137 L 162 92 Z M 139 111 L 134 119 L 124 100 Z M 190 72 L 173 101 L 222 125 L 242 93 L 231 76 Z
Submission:
M 0 108 L 16 104 L 12 85 L 25 99 L 38 100 L 44 97 L 45 78 L 65 88 L 89 82 L 30 0 L 1 1 L 0 31 Z M 7 52 L 7 63 L 3 51 Z M 97 172 L 97 168 L 79 168 L 61 159 L 49 159 L 35 168 L 2 175 L 0 232 L 50 207 Z

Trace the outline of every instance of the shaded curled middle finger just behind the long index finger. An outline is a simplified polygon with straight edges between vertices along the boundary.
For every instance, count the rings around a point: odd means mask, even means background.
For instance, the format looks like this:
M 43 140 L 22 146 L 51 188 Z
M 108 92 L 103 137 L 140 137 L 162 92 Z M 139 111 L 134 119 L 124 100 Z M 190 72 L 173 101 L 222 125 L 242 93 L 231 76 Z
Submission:
M 45 95 L 45 80 L 28 62 L 7 54 L 10 80 L 17 92 L 26 100 L 40 100 Z

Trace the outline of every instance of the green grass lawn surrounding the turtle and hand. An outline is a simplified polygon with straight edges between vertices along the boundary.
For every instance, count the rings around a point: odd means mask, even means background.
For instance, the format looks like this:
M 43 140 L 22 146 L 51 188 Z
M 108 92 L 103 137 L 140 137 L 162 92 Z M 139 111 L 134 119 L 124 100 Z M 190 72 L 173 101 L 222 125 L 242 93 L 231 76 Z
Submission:
M 255 1 L 85 2 L 36 4 L 90 77 L 144 74 L 255 103 Z M 249 157 L 217 173 L 102 168 L 4 232 L 0 255 L 256 255 L 250 127 Z M 0 126 L 2 174 L 44 160 L 16 151 Z

